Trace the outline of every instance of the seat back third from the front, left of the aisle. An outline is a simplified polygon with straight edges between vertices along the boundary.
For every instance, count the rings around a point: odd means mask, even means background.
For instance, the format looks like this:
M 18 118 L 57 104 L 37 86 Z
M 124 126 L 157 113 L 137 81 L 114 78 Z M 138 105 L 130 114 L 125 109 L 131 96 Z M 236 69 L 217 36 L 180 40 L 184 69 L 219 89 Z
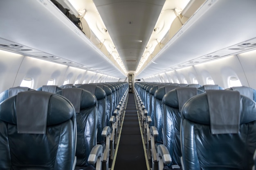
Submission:
M 77 88 L 85 89 L 94 94 L 97 98 L 97 143 L 105 143 L 105 138 L 101 136 L 103 128 L 106 126 L 106 92 L 95 84 L 83 84 Z

